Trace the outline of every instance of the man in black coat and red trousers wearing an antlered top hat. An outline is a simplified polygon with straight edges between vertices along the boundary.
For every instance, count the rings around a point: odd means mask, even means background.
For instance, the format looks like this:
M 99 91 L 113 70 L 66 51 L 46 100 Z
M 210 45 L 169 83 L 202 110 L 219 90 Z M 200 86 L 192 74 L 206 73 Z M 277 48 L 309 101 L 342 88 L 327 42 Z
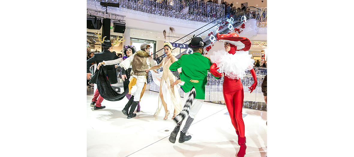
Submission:
M 100 62 L 103 62 L 103 61 L 118 59 L 118 56 L 115 53 L 112 53 L 109 51 L 110 47 L 112 47 L 112 44 L 109 40 L 104 40 L 102 42 L 101 46 L 103 47 L 103 52 L 95 53 L 95 55 L 92 58 L 90 58 L 86 61 L 86 63 L 87 63 L 87 69 L 86 69 L 87 79 L 91 79 L 91 77 L 90 77 L 91 63 L 96 62 L 98 65 Z M 110 84 L 115 84 L 118 82 L 117 73 L 116 73 L 114 65 L 104 66 L 103 70 L 107 74 Z M 98 70 L 95 71 L 95 74 L 98 74 L 97 72 L 98 72 Z M 90 80 L 90 83 L 96 84 L 97 77 L 92 77 L 92 79 Z M 105 108 L 105 106 L 101 106 L 102 101 L 103 101 L 103 97 L 101 97 L 101 95 L 99 95 L 98 89 L 96 89 L 95 93 L 93 94 L 93 98 L 92 98 L 92 102 L 91 102 L 90 106 L 95 107 L 94 110 L 103 109 L 103 108 Z

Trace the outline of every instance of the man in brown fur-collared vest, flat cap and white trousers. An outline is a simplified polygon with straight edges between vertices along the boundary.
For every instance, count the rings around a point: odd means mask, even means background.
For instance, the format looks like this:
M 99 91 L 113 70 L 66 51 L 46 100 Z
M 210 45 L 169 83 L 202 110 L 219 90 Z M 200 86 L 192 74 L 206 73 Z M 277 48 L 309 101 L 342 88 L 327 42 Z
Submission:
M 140 46 L 141 50 L 135 54 L 132 54 L 129 58 L 119 64 L 119 66 L 125 70 L 132 66 L 129 83 L 129 94 L 131 94 L 132 97 L 122 110 L 123 114 L 128 116 L 128 119 L 136 117 L 136 114 L 133 112 L 145 91 L 145 86 L 147 83 L 146 79 L 148 77 L 148 73 L 145 72 L 145 69 L 157 65 L 156 61 L 154 61 L 154 59 L 149 55 L 150 48 L 150 45 L 142 44 Z M 129 107 L 130 111 L 128 113 Z

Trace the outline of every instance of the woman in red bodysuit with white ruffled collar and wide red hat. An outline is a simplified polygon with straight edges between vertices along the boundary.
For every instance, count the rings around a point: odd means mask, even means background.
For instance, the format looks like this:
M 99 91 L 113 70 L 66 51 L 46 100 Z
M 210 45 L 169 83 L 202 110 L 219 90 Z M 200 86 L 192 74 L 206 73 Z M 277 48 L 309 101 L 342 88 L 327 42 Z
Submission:
M 217 34 L 219 41 L 224 42 L 225 50 L 213 52 L 210 60 L 213 65 L 210 66 L 210 73 L 216 77 L 221 77 L 222 73 L 218 73 L 219 69 L 224 73 L 223 96 L 227 110 L 231 118 L 232 125 L 236 129 L 238 135 L 238 144 L 241 146 L 238 157 L 244 157 L 246 153 L 245 124 L 242 119 L 242 106 L 244 100 L 244 90 L 241 84 L 246 70 L 252 74 L 254 83 L 249 87 L 252 92 L 257 86 L 257 78 L 255 70 L 253 70 L 254 60 L 251 59 L 247 50 L 251 47 L 248 38 L 240 37 L 238 34 Z

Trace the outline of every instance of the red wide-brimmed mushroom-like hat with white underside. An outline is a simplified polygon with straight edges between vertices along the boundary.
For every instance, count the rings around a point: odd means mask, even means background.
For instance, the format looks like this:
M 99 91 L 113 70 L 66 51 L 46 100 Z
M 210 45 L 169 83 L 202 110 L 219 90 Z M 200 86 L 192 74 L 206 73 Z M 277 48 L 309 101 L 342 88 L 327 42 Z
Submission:
M 248 51 L 251 48 L 251 41 L 246 37 L 240 37 L 236 33 L 216 34 L 216 38 L 222 42 L 228 42 L 236 46 L 236 51 Z

